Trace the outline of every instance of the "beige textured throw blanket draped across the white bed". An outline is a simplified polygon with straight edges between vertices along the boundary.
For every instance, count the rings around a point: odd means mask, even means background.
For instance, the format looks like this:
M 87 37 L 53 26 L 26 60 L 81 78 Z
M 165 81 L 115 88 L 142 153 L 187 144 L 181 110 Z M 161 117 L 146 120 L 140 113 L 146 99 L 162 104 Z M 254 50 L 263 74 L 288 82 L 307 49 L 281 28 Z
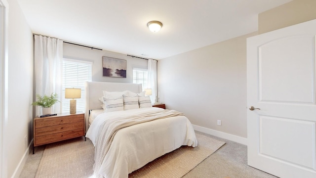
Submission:
M 174 116 L 183 116 L 175 110 L 160 110 L 160 111 L 148 111 L 142 113 L 141 115 L 131 115 L 128 117 L 116 117 L 105 120 L 99 130 L 97 137 L 97 142 L 95 145 L 95 155 L 94 155 L 94 173 L 97 178 L 103 178 L 98 174 L 98 171 L 102 165 L 102 162 L 110 149 L 112 140 L 119 129 L 133 126 L 136 124 L 149 122 L 157 119 L 164 119 Z

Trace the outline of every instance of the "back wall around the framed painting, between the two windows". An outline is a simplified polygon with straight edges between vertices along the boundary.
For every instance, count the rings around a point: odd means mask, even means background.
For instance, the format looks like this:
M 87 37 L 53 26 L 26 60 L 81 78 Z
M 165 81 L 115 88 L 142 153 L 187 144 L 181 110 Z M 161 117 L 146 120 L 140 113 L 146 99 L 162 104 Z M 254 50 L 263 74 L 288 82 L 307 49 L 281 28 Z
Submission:
M 92 64 L 92 81 L 93 82 L 120 82 L 133 83 L 133 68 L 148 68 L 148 60 L 130 57 L 126 54 L 111 52 L 107 50 L 91 49 L 79 45 L 64 43 L 64 58 L 91 61 Z M 126 78 L 103 77 L 102 56 L 113 57 L 126 60 Z

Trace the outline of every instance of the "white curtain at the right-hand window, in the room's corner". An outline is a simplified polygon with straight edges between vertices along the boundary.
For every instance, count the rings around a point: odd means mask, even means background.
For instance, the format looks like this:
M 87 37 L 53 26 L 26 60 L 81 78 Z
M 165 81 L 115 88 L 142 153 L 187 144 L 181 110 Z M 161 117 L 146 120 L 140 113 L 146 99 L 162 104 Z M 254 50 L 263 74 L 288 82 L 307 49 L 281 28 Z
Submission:
M 147 88 L 152 89 L 150 96 L 152 103 L 158 102 L 157 100 L 157 60 L 148 59 L 148 83 Z

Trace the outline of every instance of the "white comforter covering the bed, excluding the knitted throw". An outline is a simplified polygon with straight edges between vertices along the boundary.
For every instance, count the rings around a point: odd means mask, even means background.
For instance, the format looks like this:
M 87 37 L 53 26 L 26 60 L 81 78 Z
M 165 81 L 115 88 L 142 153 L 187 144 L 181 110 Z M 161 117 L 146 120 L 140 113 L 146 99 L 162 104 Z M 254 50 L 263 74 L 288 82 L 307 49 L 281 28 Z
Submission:
M 112 117 L 126 117 L 161 108 L 141 108 L 100 114 L 91 124 L 86 137 L 96 145 L 100 125 Z M 158 119 L 120 129 L 96 177 L 127 178 L 128 174 L 182 145 L 197 146 L 194 129 L 185 116 Z

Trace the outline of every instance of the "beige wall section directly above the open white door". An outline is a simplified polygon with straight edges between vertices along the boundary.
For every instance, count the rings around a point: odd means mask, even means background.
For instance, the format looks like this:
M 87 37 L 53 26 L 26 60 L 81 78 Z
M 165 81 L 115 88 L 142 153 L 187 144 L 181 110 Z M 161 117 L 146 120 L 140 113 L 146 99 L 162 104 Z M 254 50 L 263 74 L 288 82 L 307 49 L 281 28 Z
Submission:
M 316 0 L 293 0 L 258 15 L 259 34 L 316 19 Z

